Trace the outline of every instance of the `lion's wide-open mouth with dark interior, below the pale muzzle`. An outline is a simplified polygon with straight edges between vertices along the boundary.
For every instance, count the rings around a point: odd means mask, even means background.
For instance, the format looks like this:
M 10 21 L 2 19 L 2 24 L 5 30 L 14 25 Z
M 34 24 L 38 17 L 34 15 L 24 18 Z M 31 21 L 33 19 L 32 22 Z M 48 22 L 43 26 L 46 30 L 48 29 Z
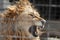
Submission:
M 44 28 L 42 26 L 31 26 L 29 28 L 29 32 L 34 36 L 37 37 L 38 35 L 40 35 L 39 32 L 44 32 Z

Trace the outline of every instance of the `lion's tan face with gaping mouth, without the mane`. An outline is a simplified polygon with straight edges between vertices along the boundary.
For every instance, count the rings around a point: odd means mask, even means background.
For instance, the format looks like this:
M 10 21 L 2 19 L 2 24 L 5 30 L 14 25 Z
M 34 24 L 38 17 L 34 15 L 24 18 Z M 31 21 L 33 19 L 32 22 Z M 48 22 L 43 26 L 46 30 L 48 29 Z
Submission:
M 29 7 L 27 10 L 24 10 L 17 19 L 19 20 L 17 24 L 21 24 L 21 28 L 23 27 L 24 30 L 33 36 L 38 36 L 46 23 L 36 10 Z

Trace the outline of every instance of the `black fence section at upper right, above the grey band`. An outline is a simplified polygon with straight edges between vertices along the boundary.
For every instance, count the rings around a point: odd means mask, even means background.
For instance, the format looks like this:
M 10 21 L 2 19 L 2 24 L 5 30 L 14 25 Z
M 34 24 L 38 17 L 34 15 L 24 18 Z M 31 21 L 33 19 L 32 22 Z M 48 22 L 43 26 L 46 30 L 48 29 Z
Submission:
M 60 19 L 60 1 L 59 0 L 35 0 L 35 6 L 41 10 L 41 14 L 48 20 Z

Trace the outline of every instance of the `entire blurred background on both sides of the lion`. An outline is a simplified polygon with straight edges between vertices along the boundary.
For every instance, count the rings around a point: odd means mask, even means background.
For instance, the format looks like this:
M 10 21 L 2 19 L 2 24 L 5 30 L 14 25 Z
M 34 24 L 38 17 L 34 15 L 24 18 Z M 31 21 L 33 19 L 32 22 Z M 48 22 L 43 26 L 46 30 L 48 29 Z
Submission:
M 0 12 L 7 6 L 19 0 L 0 0 Z M 60 40 L 60 0 L 30 0 L 37 8 L 41 17 L 47 21 L 46 33 L 41 40 Z

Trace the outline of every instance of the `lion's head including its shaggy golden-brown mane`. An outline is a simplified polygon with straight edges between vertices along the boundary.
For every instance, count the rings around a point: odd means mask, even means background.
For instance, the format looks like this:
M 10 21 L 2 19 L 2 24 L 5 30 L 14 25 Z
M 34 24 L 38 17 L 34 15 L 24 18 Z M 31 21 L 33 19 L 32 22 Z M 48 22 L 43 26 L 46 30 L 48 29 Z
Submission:
M 8 7 L 7 10 L 0 15 L 3 18 L 3 25 L 7 24 L 7 27 L 10 28 L 7 28 L 7 34 L 11 35 L 11 31 L 13 32 L 15 29 L 16 35 L 22 38 L 38 37 L 43 33 L 41 30 L 44 28 L 46 21 L 40 16 L 36 9 L 34 9 L 31 4 L 26 1 L 25 4 L 21 1 L 16 5 Z M 15 33 L 13 32 L 12 35 L 14 34 Z

